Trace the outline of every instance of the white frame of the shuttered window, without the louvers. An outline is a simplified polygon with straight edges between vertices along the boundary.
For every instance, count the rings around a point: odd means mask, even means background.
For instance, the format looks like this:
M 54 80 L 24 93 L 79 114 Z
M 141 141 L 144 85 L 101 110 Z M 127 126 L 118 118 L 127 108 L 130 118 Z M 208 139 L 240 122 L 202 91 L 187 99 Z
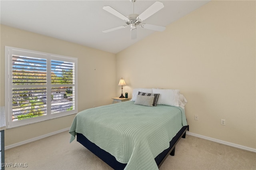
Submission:
M 46 115 L 32 117 L 29 119 L 22 119 L 12 121 L 12 88 L 18 85 L 12 84 L 12 57 L 13 55 L 20 55 L 26 57 L 34 57 L 46 59 L 46 85 L 36 85 L 38 87 L 46 87 Z M 52 87 L 62 87 L 63 84 L 51 83 L 51 61 L 66 61 L 74 63 L 74 84 L 65 84 L 64 86 L 72 86 L 74 88 L 74 109 L 60 113 L 51 113 L 51 89 Z M 48 83 L 50 82 L 50 83 Z M 31 87 L 33 87 L 32 85 Z M 30 85 L 28 85 L 30 87 Z M 50 102 L 49 102 L 50 101 Z M 63 55 L 56 55 L 51 53 L 44 53 L 39 51 L 32 51 L 29 49 L 21 49 L 16 47 L 5 46 L 5 108 L 6 108 L 6 128 L 19 127 L 22 125 L 29 125 L 40 121 L 46 121 L 58 117 L 64 117 L 78 113 L 78 59 L 75 57 L 67 57 Z

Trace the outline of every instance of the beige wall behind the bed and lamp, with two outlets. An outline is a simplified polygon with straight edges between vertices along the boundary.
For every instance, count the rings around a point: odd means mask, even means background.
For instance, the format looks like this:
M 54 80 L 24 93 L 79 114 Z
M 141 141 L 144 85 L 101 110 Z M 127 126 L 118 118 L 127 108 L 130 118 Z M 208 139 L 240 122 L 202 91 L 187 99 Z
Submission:
M 209 2 L 118 53 L 124 93 L 180 89 L 190 132 L 256 148 L 255 3 Z

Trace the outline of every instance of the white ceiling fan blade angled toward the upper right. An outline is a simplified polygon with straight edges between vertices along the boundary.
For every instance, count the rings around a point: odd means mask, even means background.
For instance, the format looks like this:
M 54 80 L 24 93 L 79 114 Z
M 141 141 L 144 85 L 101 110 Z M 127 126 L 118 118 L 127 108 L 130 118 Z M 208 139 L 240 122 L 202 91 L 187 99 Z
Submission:
M 158 12 L 159 10 L 161 10 L 162 8 L 164 8 L 164 4 L 162 2 L 157 1 L 153 5 L 151 5 L 148 9 L 146 9 L 144 12 L 142 12 L 137 17 L 137 20 L 142 22 L 146 20 L 148 17 L 155 14 L 156 12 Z

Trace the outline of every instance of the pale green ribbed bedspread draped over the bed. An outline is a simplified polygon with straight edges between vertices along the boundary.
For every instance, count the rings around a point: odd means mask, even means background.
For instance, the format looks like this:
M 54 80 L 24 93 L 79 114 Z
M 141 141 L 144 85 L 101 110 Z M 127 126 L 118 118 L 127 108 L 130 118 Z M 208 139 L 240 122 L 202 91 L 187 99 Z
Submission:
M 126 170 L 158 170 L 154 158 L 186 125 L 180 107 L 147 107 L 126 101 L 78 113 L 69 131 L 70 142 L 81 133 L 118 162 L 127 163 Z

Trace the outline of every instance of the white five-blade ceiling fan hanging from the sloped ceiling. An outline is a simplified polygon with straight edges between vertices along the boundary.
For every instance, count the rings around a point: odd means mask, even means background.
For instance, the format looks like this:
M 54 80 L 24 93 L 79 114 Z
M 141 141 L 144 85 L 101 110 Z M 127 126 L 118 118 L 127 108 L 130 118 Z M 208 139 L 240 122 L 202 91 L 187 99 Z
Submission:
M 139 14 L 134 14 L 134 2 L 136 0 L 130 0 L 132 2 L 132 8 L 133 8 L 133 14 L 130 14 L 128 16 L 124 16 L 114 8 L 110 6 L 104 6 L 103 9 L 109 12 L 110 14 L 113 14 L 114 16 L 117 16 L 118 18 L 122 19 L 125 21 L 126 25 L 124 26 L 118 26 L 115 28 L 110 28 L 108 30 L 104 30 L 102 32 L 111 32 L 114 30 L 119 30 L 121 28 L 126 28 L 128 25 L 131 27 L 131 38 L 136 39 L 137 37 L 137 26 L 140 26 L 141 28 L 146 28 L 149 30 L 154 30 L 154 31 L 164 31 L 165 27 L 164 26 L 156 26 L 152 24 L 145 24 L 142 23 L 144 20 L 146 20 L 148 17 L 152 16 L 162 8 L 164 8 L 164 4 L 162 2 L 155 2 L 153 5 L 151 5 L 148 9 L 146 9 L 144 12 L 142 12 L 140 15 Z

